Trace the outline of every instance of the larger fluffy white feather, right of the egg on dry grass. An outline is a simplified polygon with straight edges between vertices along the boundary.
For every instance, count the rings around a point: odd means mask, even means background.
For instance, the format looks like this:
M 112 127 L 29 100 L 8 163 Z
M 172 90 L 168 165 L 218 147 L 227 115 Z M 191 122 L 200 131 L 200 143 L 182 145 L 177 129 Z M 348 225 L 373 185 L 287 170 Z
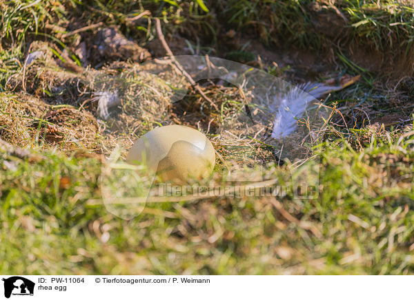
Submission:
M 322 83 L 306 83 L 292 87 L 282 96 L 275 120 L 273 121 L 272 138 L 283 138 L 293 133 L 297 127 L 297 119 L 302 118 L 306 107 L 315 98 L 342 89 L 323 85 Z M 275 99 L 276 102 L 277 99 Z

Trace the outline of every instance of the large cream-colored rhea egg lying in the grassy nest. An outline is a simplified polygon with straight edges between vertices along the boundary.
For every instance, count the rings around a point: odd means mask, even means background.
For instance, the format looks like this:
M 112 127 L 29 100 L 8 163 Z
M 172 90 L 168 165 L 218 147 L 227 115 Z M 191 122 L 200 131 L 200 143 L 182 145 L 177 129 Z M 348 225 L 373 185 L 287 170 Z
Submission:
M 188 182 L 207 178 L 212 173 L 215 150 L 203 133 L 186 126 L 169 125 L 139 138 L 126 161 L 146 164 L 163 181 Z

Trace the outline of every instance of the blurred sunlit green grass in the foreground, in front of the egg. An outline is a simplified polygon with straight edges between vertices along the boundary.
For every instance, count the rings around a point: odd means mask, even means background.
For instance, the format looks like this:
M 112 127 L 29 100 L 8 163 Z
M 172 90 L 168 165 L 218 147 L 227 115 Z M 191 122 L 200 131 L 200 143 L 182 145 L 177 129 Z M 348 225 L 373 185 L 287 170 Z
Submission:
M 126 221 L 99 200 L 96 160 L 2 153 L 0 272 L 413 274 L 413 142 L 321 144 L 319 196 L 279 199 L 299 222 L 266 197 L 152 204 Z M 315 165 L 293 176 L 316 180 Z M 266 172 L 288 180 L 289 169 Z

